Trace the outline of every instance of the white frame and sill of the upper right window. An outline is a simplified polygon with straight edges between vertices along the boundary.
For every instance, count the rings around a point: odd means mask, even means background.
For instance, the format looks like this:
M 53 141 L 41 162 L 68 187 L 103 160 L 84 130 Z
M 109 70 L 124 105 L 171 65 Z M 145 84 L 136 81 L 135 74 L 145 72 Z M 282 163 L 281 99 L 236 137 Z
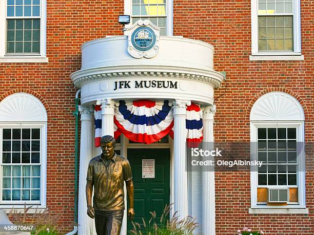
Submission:
M 300 0 L 293 0 L 293 52 L 259 52 L 258 0 L 251 0 L 252 55 L 250 60 L 304 60 L 301 54 L 300 12 Z

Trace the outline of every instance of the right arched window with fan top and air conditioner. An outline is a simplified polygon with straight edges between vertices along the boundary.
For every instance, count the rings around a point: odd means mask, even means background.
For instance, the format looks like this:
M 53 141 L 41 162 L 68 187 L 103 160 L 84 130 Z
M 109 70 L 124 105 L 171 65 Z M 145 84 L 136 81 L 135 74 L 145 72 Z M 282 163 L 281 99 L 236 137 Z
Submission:
M 261 96 L 250 113 L 251 208 L 305 208 L 304 112 L 283 92 Z M 269 210 L 270 211 L 270 210 Z

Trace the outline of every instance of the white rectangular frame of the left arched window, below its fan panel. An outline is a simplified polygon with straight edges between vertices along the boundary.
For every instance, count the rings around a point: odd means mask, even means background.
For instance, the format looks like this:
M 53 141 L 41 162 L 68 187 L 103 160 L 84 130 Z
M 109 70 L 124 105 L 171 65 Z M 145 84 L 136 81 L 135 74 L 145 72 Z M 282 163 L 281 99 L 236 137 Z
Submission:
M 24 204 L 27 207 L 32 207 L 28 213 L 34 212 L 36 207 L 46 208 L 46 194 L 47 194 L 47 122 L 0 122 L 0 143 L 2 143 L 2 130 L 10 128 L 38 128 L 41 129 L 41 195 L 40 202 L 34 203 L 32 201 L 16 201 L 9 202 L 2 201 L 2 164 L 0 167 L 0 208 L 9 210 L 11 208 L 19 208 L 19 211 L 24 211 Z M 2 144 L 0 144 L 0 154 L 2 157 Z M 2 163 L 2 159 L 1 159 Z M 40 211 L 37 211 L 40 212 Z

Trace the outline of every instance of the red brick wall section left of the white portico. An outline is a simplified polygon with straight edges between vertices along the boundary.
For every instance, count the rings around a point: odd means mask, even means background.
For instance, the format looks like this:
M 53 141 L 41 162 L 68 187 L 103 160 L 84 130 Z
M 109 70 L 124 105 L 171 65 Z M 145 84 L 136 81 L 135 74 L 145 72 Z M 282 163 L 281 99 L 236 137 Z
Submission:
M 60 225 L 74 220 L 76 88 L 70 74 L 81 68 L 81 45 L 122 34 L 117 16 L 124 1 L 47 1 L 48 63 L 0 63 L 0 101 L 15 92 L 35 95 L 48 112 L 47 206 Z M 3 38 L 3 37 L 2 37 Z M 1 43 L 3 43 L 1 39 Z M 73 226 L 68 227 L 68 231 Z

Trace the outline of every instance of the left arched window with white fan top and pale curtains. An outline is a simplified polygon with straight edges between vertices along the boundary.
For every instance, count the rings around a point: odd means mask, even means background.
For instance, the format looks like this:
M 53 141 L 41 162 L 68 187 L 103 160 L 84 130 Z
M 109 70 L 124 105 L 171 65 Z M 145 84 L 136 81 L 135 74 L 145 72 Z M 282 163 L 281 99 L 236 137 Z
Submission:
M 46 205 L 47 113 L 40 100 L 15 93 L 0 102 L 0 207 Z

